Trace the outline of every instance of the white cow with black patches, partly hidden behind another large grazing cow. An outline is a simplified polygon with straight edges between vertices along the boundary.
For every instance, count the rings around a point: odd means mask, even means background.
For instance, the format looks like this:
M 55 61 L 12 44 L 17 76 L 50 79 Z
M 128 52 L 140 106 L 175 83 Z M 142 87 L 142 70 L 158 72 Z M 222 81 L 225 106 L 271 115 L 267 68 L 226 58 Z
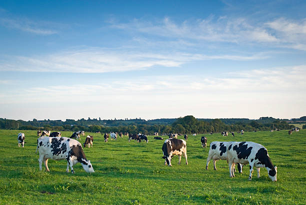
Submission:
M 213 160 L 213 169 L 217 170 L 215 162 L 217 160 L 227 160 L 227 145 L 228 141 L 213 141 L 209 145 L 208 156 L 206 160 L 206 169 L 208 169 L 209 161 Z M 237 164 L 239 173 L 242 173 L 242 164 Z

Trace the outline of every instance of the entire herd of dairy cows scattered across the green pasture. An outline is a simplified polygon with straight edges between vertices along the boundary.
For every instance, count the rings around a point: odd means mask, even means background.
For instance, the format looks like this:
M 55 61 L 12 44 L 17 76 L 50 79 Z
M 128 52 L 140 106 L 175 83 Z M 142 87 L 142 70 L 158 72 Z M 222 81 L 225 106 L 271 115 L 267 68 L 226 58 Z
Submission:
M 292 129 L 293 130 L 293 129 Z M 291 132 L 292 132 L 291 130 Z M 294 129 L 295 130 L 295 129 Z M 290 130 L 289 130 L 290 131 Z M 161 139 L 162 137 L 157 137 L 158 133 L 154 133 L 154 139 Z M 221 134 L 224 135 L 225 132 Z M 227 133 L 227 132 L 226 132 Z M 84 135 L 84 131 L 73 132 L 70 137 L 62 137 L 61 132 L 50 132 L 48 130 L 37 131 L 37 150 L 39 151 L 39 169 L 41 170 L 41 164 L 44 162 L 45 168 L 49 171 L 47 166 L 47 161 L 49 158 L 54 160 L 67 160 L 67 168 L 66 172 L 69 172 L 69 167 L 71 172 L 74 173 L 73 165 L 77 162 L 80 162 L 83 169 L 86 172 L 94 172 L 93 167 L 90 163 L 90 160 L 86 159 L 86 156 L 83 152 L 81 143 L 76 139 L 80 140 L 80 134 Z M 117 139 L 116 132 L 104 133 L 104 142 L 108 141 L 108 136 L 110 135 L 111 140 Z M 233 133 L 232 133 L 233 134 Z M 241 134 L 243 134 L 243 130 L 241 130 Z M 290 134 L 290 132 L 289 132 Z M 122 132 L 119 133 L 119 136 L 122 137 Z M 124 135 L 128 136 L 128 141 L 131 139 L 140 142 L 141 140 L 145 140 L 148 142 L 147 136 L 145 134 L 128 134 L 124 133 Z M 184 139 L 177 139 L 177 134 L 168 134 L 168 139 L 165 139 L 162 145 L 162 152 L 164 158 L 164 164 L 168 166 L 171 165 L 171 159 L 173 155 L 178 155 L 178 164 L 180 164 L 181 155 L 185 157 L 186 164 L 187 162 L 187 153 L 186 153 L 186 141 L 188 136 L 184 134 Z M 24 133 L 18 133 L 18 146 L 24 145 Z M 74 139 L 72 139 L 74 138 Z M 207 138 L 205 136 L 201 137 L 201 146 L 207 147 Z M 91 135 L 87 135 L 83 146 L 86 145 L 88 147 L 92 147 L 93 137 Z M 242 172 L 242 166 L 244 164 L 249 164 L 249 176 L 248 179 L 251 180 L 253 167 L 256 167 L 257 177 L 259 177 L 260 167 L 265 167 L 268 171 L 268 176 L 272 181 L 276 181 L 276 172 L 277 167 L 273 166 L 269 155 L 267 153 L 267 149 L 261 144 L 251 142 L 251 141 L 213 141 L 210 143 L 208 156 L 206 160 L 206 169 L 208 169 L 208 164 L 210 160 L 213 160 L 213 168 L 216 170 L 215 163 L 217 160 L 227 160 L 228 168 L 229 168 L 229 176 L 234 177 L 235 164 L 238 166 L 239 173 Z

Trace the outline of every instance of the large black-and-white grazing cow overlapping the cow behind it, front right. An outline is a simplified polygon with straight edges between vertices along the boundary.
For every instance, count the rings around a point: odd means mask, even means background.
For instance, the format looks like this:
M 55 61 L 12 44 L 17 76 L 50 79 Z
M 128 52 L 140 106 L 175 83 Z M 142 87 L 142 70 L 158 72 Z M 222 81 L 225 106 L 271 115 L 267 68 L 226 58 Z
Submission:
M 272 181 L 276 181 L 277 166 L 273 166 L 267 149 L 261 144 L 252 141 L 230 141 L 228 142 L 227 159 L 229 176 L 233 177 L 233 164 L 242 163 L 249 164 L 248 180 L 252 179 L 253 167 L 257 169 L 257 177 L 259 178 L 260 167 L 265 167 Z

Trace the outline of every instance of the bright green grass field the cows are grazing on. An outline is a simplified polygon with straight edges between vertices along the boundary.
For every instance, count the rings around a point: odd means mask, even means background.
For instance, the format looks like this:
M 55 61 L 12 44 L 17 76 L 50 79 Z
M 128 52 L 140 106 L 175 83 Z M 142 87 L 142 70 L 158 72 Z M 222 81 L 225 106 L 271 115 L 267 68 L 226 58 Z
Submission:
M 36 131 L 24 130 L 24 148 L 17 147 L 19 130 L 0 130 L 0 203 L 1 204 L 305 204 L 306 203 L 306 129 L 245 132 L 235 137 L 206 135 L 211 141 L 254 141 L 268 149 L 277 165 L 277 181 L 272 182 L 265 168 L 260 178 L 248 180 L 248 165 L 243 173 L 230 178 L 225 160 L 212 161 L 205 170 L 209 148 L 201 148 L 202 135 L 189 135 L 188 165 L 164 166 L 161 158 L 163 140 L 127 142 L 127 137 L 104 143 L 103 136 L 93 135 L 93 147 L 83 147 L 94 173 L 86 173 L 80 163 L 75 173 L 66 173 L 66 161 L 48 160 L 50 172 L 38 168 Z M 62 132 L 70 136 L 71 132 Z M 89 134 L 89 133 L 85 133 Z M 182 138 L 180 136 L 179 138 Z M 81 143 L 85 137 L 81 137 Z

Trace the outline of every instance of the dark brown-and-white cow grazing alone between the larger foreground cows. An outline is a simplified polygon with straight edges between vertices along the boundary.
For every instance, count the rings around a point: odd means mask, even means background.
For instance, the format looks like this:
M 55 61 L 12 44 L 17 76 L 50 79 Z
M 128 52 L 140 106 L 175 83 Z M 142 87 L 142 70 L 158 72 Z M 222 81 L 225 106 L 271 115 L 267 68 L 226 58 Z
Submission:
M 187 162 L 187 149 L 186 149 L 186 141 L 183 139 L 169 138 L 164 140 L 163 145 L 161 147 L 164 158 L 164 165 L 171 165 L 171 159 L 173 155 L 178 155 L 178 164 L 180 164 L 181 155 L 184 154 L 184 157 Z

